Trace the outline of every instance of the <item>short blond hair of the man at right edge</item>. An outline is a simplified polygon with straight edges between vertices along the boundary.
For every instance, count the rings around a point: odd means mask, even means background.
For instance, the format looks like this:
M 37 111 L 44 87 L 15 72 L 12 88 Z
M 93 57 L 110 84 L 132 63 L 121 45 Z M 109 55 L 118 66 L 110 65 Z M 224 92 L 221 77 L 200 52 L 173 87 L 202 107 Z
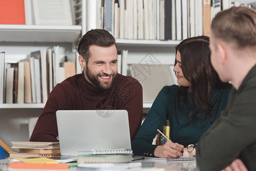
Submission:
M 235 43 L 239 48 L 256 45 L 256 10 L 232 7 L 218 13 L 211 26 L 217 38 Z

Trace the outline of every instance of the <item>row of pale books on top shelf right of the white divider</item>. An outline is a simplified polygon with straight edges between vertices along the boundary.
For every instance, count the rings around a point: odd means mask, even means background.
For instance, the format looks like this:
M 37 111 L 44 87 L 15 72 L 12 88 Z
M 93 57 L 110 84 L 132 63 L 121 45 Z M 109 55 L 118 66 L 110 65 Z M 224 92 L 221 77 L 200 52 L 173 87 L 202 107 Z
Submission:
M 210 34 L 219 11 L 239 6 L 230 0 L 88 0 L 87 30 L 104 28 L 120 39 L 182 40 Z

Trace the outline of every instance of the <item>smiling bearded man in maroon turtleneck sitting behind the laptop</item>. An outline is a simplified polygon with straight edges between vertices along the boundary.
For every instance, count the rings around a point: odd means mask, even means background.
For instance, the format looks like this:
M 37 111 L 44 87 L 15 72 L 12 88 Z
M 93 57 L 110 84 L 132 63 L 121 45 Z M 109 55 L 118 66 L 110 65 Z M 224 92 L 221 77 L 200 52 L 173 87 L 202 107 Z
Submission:
M 30 141 L 58 141 L 56 111 L 94 109 L 127 110 L 133 139 L 143 115 L 142 87 L 131 76 L 117 74 L 115 38 L 106 30 L 90 30 L 82 36 L 78 52 L 83 73 L 52 89 Z

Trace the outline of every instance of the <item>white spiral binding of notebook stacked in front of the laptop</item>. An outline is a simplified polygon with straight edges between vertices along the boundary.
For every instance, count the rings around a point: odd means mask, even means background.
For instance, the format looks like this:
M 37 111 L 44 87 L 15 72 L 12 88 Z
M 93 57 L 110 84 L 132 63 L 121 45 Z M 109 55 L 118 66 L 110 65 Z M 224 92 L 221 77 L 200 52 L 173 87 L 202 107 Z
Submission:
M 132 149 L 118 148 L 118 149 L 92 149 L 92 154 L 132 154 Z

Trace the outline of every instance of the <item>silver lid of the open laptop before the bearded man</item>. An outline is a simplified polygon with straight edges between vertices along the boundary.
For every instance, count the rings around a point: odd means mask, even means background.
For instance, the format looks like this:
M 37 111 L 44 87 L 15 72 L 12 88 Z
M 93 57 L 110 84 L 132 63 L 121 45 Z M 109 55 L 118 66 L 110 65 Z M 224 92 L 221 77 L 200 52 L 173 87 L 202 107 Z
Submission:
M 56 111 L 60 153 L 77 156 L 92 149 L 131 149 L 125 110 Z

